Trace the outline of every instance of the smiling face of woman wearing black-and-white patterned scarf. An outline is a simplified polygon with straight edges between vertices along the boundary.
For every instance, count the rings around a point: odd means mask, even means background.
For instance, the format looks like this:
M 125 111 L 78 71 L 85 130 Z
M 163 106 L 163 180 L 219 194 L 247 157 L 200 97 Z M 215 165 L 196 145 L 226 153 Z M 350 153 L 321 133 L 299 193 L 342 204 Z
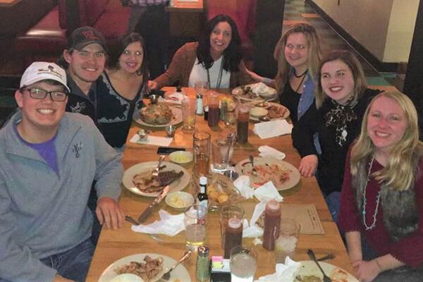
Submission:
M 321 89 L 338 104 L 345 104 L 354 93 L 354 76 L 341 60 L 328 61 L 321 66 Z

